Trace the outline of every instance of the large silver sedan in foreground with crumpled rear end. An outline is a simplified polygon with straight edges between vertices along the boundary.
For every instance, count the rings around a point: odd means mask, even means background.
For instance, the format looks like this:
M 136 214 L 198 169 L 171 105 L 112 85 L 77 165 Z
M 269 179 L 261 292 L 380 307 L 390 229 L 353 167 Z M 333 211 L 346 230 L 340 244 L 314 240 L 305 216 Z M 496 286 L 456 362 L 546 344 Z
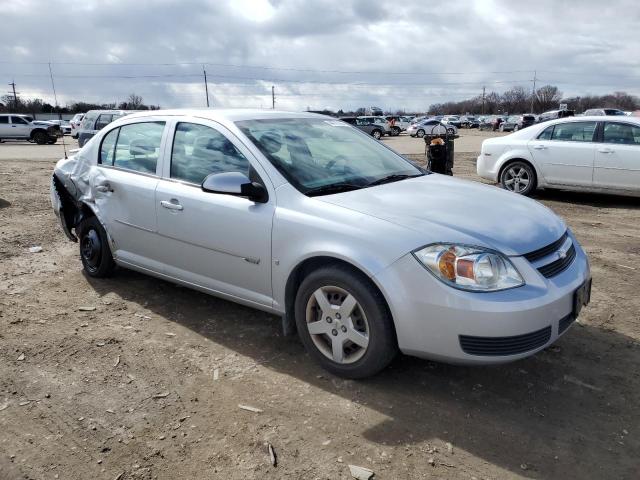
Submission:
M 589 299 L 587 257 L 551 210 L 425 172 L 320 115 L 121 118 L 57 163 L 51 198 L 88 276 L 118 265 L 281 315 L 344 377 L 398 349 L 524 358 Z

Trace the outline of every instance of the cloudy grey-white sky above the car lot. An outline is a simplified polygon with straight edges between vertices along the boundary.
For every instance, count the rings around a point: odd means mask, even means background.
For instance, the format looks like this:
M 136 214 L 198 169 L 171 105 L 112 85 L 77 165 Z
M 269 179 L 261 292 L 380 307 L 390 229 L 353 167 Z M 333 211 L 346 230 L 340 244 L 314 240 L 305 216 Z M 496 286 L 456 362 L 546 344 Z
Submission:
M 22 97 L 425 110 L 515 85 L 640 95 L 640 2 L 2 0 L 0 80 Z M 0 90 L 2 94 L 4 90 Z

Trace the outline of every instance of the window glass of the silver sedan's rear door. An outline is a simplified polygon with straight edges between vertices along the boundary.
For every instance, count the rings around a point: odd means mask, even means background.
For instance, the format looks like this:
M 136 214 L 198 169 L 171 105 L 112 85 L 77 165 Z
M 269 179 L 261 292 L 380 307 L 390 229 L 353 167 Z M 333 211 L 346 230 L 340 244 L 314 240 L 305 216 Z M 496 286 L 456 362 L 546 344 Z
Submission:
M 113 153 L 113 166 L 140 173 L 156 173 L 165 122 L 141 122 L 119 129 Z M 113 132 L 109 132 L 109 137 Z M 105 137 L 105 140 L 107 140 Z M 109 144 L 105 150 L 107 160 Z

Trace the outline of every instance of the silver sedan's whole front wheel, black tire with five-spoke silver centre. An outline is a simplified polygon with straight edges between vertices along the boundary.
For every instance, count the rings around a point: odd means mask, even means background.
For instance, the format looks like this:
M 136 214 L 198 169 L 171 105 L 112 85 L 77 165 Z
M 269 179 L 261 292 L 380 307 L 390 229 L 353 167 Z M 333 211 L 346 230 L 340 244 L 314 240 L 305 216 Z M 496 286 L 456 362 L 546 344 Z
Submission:
M 339 311 L 338 306 L 345 303 L 351 305 L 350 313 Z M 340 377 L 375 375 L 398 351 L 382 294 L 366 277 L 347 267 L 328 266 L 309 274 L 296 294 L 295 317 L 311 357 Z

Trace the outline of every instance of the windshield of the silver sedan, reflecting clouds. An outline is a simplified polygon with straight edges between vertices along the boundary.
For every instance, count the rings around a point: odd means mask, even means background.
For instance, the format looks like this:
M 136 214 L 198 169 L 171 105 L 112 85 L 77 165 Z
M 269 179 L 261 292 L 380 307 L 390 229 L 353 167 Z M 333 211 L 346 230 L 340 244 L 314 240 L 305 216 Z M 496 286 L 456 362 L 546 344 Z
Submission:
M 279 118 L 236 122 L 242 132 L 299 191 L 354 190 L 386 178 L 423 172 L 378 141 L 337 120 Z

